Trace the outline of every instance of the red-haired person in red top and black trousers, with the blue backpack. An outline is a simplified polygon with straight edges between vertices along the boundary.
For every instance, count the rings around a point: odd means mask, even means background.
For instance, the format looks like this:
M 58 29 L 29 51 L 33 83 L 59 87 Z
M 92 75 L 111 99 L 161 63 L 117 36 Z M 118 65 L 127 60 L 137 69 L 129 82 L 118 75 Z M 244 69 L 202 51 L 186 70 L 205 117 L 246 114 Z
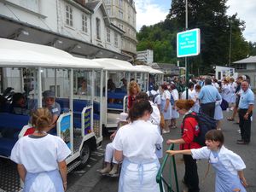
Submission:
M 179 139 L 169 139 L 167 144 L 180 144 L 180 149 L 201 148 L 205 145 L 205 134 L 208 130 L 216 128 L 216 121 L 204 114 L 191 111 L 195 102 L 193 100 L 178 100 L 176 102 L 177 112 L 183 115 L 182 137 Z M 215 123 L 214 123 L 215 122 Z M 196 160 L 190 154 L 183 154 L 185 164 L 185 175 L 183 183 L 189 191 L 200 191 L 199 178 L 197 173 Z

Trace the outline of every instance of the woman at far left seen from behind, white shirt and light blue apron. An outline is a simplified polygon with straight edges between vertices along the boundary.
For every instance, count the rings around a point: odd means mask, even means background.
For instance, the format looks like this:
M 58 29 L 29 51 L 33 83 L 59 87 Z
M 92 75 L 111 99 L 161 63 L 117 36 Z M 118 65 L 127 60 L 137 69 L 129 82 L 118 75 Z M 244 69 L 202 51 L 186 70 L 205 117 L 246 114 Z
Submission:
M 32 114 L 36 131 L 21 137 L 12 149 L 10 159 L 18 164 L 24 192 L 63 192 L 67 189 L 65 159 L 71 153 L 61 137 L 47 134 L 52 115 L 47 108 Z

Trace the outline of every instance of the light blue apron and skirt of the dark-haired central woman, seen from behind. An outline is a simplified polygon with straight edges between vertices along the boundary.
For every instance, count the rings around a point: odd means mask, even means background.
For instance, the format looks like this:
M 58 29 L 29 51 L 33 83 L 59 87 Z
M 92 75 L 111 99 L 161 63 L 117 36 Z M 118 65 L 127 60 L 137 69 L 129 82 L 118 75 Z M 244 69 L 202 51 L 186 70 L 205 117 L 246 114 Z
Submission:
M 131 171 L 129 166 L 136 166 L 137 168 Z M 152 166 L 152 168 L 149 170 L 147 166 Z M 119 177 L 119 192 L 160 192 L 155 179 L 159 168 L 158 159 L 137 163 L 125 158 Z

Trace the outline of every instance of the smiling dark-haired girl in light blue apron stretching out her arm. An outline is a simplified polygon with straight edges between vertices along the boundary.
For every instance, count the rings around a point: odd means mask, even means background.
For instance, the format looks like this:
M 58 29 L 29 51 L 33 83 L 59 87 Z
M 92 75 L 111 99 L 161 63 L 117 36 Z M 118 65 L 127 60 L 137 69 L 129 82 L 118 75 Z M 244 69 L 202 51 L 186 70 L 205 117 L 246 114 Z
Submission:
M 222 131 L 211 130 L 206 134 L 207 147 L 180 151 L 167 150 L 168 154 L 192 154 L 196 160 L 207 159 L 216 172 L 215 191 L 246 192 L 247 181 L 243 174 L 246 168 L 241 157 L 224 147 Z

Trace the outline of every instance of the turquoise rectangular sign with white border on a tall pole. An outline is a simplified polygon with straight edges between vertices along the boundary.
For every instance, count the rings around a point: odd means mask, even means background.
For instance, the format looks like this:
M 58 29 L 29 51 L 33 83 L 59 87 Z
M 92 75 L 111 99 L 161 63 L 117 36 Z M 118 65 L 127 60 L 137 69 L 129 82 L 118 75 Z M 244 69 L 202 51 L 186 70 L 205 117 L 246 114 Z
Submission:
M 177 57 L 200 54 L 200 29 L 177 33 Z

